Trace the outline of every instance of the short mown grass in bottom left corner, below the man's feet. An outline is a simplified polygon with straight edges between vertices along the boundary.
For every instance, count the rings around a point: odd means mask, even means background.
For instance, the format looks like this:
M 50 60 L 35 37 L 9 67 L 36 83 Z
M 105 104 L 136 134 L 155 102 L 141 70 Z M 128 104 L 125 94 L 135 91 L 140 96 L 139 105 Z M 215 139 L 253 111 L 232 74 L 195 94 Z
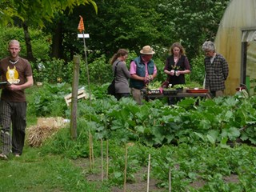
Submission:
M 109 191 L 101 183 L 86 182 L 82 170 L 69 159 L 25 147 L 20 158 L 0 161 L 0 191 Z

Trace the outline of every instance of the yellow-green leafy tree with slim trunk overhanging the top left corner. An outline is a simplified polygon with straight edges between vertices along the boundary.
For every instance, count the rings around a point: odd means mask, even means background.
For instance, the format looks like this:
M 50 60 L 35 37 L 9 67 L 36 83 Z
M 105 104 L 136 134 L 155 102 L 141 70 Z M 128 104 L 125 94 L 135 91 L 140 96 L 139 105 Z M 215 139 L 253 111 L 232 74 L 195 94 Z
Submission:
M 27 58 L 34 60 L 32 47 L 30 43 L 29 26 L 45 26 L 45 22 L 51 22 L 54 13 L 69 10 L 71 13 L 75 6 L 92 4 L 94 10 L 98 10 L 93 0 L 2 0 L 0 2 L 1 24 L 21 23 L 26 42 Z

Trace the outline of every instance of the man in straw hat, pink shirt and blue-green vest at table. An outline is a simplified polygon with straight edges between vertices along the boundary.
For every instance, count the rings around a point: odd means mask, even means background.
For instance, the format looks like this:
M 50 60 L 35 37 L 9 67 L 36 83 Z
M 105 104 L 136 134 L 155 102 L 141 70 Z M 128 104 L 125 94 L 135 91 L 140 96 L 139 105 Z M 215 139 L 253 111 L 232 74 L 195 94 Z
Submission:
M 143 46 L 140 53 L 130 62 L 130 87 L 134 100 L 141 105 L 141 90 L 157 76 L 157 67 L 151 59 L 154 51 L 150 46 Z

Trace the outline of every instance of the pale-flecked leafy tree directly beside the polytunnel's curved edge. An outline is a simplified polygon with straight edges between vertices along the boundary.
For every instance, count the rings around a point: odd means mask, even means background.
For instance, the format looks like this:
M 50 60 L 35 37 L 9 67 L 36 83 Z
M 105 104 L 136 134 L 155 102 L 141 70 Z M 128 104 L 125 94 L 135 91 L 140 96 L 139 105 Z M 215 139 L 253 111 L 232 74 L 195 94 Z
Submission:
M 186 47 L 189 58 L 194 58 L 200 52 L 202 42 L 214 41 L 218 24 L 229 2 L 229 0 L 162 2 L 158 11 L 165 13 L 164 20 L 174 23 L 176 41 L 182 42 Z

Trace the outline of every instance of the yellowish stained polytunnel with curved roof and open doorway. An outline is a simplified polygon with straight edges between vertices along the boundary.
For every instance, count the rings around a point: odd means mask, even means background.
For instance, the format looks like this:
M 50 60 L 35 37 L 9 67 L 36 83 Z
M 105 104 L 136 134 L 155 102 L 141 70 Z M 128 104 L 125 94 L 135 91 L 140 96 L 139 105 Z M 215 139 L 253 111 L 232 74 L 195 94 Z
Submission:
M 241 83 L 256 94 L 256 0 L 230 1 L 214 43 L 229 64 L 225 94 L 234 94 Z

